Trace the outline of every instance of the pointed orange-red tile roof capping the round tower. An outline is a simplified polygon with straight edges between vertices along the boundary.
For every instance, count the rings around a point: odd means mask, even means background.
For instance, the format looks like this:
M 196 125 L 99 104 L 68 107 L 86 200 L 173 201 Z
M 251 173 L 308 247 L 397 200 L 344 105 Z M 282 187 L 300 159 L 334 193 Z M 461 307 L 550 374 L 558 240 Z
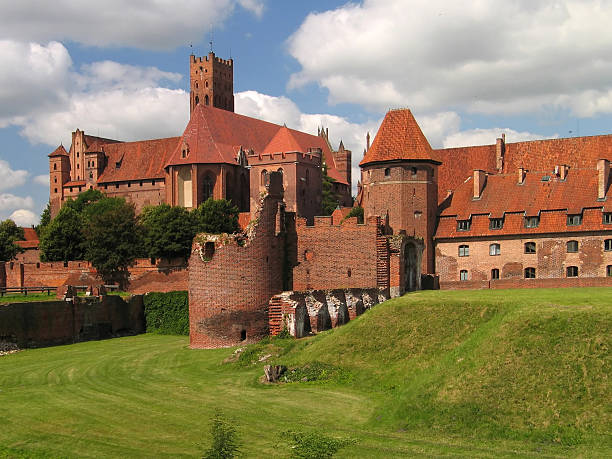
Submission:
M 359 165 L 402 159 L 438 161 L 437 155 L 408 109 L 387 112 L 372 146 Z

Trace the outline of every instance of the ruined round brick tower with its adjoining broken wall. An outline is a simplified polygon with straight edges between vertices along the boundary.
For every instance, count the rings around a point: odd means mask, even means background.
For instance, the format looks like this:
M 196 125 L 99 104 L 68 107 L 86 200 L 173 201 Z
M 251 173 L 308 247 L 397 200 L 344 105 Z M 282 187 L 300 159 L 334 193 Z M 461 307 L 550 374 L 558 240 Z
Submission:
M 281 180 L 281 174 L 270 174 L 244 233 L 196 236 L 189 260 L 191 347 L 232 346 L 266 336 L 271 326 L 276 330 L 278 324 L 270 320 L 278 320 L 278 308 L 269 311 L 270 298 L 283 291 L 316 299 L 309 312 L 309 330 L 316 331 L 356 317 L 360 305 L 378 302 L 380 295 L 398 296 L 420 286 L 421 240 L 385 234 L 379 217 L 364 224 L 344 220 L 339 210 L 315 217 L 313 225 L 296 221 L 284 211 Z M 327 293 L 320 293 L 328 290 L 336 292 L 329 298 L 345 306 L 329 306 L 323 299 Z M 380 291 L 386 293 L 373 293 Z M 299 324 L 306 324 L 299 314 Z M 308 329 L 293 328 L 302 330 L 298 335 Z

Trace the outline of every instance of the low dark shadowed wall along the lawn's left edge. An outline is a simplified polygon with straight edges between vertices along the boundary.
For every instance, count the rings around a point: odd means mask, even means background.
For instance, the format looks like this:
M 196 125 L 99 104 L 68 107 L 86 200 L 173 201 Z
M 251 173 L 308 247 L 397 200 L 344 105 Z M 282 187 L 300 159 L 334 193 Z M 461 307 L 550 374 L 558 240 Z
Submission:
M 75 297 L 0 305 L 0 341 L 21 348 L 144 333 L 141 295 Z

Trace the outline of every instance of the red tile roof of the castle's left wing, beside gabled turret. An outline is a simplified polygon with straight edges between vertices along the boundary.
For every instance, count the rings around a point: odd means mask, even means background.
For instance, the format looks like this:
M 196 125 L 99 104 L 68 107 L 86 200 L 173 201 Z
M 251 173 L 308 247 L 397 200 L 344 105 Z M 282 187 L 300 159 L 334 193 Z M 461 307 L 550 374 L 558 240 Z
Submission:
M 98 183 L 164 177 L 164 165 L 176 150 L 180 137 L 101 145 L 107 157 Z

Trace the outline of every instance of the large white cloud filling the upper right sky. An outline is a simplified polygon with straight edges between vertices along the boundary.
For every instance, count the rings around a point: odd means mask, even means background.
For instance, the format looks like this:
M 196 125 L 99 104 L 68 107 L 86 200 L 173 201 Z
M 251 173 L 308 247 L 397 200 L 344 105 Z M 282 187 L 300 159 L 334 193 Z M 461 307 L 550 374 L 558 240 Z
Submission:
M 311 13 L 288 40 L 332 103 L 375 111 L 612 112 L 612 2 L 364 0 Z

